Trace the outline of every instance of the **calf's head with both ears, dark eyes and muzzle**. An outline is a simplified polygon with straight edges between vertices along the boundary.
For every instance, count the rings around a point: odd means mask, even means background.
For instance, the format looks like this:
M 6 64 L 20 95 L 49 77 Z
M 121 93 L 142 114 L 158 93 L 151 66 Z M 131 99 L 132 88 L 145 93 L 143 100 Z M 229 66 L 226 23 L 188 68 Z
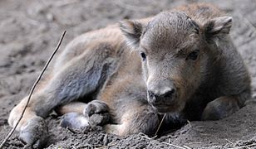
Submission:
M 120 22 L 131 49 L 141 57 L 148 101 L 159 112 L 180 111 L 209 70 L 209 50 L 229 33 L 231 17 L 199 25 L 184 12 L 161 12 L 147 22 Z

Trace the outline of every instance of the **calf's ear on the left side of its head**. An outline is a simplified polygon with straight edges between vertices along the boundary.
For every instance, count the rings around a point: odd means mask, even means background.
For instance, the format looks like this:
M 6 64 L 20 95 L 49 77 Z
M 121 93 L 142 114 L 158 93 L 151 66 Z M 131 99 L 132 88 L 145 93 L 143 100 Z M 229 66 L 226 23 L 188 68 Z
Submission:
M 125 20 L 119 22 L 119 26 L 124 36 L 126 36 L 126 43 L 131 48 L 138 48 L 140 46 L 140 36 L 142 35 L 143 26 L 140 22 Z

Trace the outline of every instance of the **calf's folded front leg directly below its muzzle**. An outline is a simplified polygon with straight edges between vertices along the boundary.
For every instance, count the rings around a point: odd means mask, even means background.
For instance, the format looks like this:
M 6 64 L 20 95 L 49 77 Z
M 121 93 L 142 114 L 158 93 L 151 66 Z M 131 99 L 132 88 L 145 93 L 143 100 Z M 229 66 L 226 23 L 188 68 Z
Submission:
M 157 110 L 147 103 L 130 102 L 117 110 L 117 117 L 120 115 L 117 118 L 120 120 L 119 123 L 105 125 L 105 131 L 119 136 L 139 132 L 153 136 L 159 125 Z

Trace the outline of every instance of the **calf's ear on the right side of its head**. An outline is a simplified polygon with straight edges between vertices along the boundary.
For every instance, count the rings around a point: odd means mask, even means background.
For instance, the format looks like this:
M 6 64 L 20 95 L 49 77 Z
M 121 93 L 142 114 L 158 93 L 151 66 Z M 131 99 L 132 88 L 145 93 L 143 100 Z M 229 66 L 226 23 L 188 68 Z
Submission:
M 218 41 L 229 34 L 232 17 L 215 17 L 204 24 L 204 35 L 207 41 Z

